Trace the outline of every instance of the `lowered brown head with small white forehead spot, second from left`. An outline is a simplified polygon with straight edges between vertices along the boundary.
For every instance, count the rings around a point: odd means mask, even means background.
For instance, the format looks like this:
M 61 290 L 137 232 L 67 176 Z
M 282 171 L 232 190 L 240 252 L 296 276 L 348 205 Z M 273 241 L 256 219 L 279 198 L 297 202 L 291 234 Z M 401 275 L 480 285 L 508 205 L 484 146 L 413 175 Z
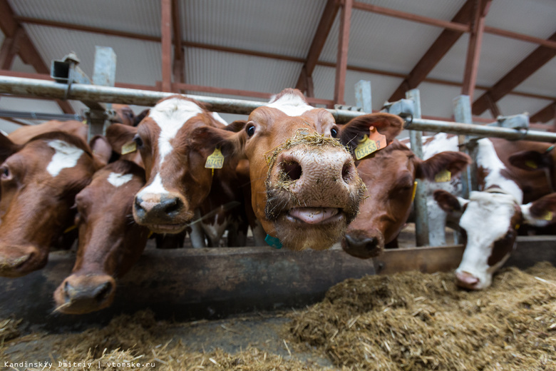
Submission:
M 54 292 L 56 311 L 83 314 L 107 308 L 115 279 L 137 262 L 149 230 L 133 220 L 133 198 L 145 185 L 145 171 L 118 160 L 101 168 L 76 195 L 79 231 L 76 263 Z

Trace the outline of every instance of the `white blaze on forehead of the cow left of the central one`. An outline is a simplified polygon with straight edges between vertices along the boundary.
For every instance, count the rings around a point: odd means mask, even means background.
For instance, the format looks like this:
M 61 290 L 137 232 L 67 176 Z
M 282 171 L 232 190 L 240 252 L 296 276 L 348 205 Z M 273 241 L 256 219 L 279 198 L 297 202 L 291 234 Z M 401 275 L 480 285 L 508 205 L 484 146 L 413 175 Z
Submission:
M 177 131 L 192 117 L 202 113 L 203 110 L 192 101 L 180 98 L 171 98 L 158 103 L 150 109 L 149 117 L 160 127 L 158 137 L 158 153 L 160 164 L 173 148 L 170 140 L 175 138 Z

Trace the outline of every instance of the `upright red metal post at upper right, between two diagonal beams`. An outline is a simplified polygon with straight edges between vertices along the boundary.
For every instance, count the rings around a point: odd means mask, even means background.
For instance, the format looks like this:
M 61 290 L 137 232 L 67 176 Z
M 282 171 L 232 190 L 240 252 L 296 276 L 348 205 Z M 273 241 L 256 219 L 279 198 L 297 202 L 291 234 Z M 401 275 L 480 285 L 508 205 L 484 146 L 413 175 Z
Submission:
M 461 93 L 469 96 L 469 100 L 472 102 L 475 92 L 475 83 L 477 82 L 477 71 L 479 69 L 480 47 L 483 45 L 485 16 L 488 13 L 491 1 L 492 0 L 475 1 L 475 14 L 473 15 L 472 31 L 469 36 L 465 71 L 463 73 L 463 86 L 461 87 Z

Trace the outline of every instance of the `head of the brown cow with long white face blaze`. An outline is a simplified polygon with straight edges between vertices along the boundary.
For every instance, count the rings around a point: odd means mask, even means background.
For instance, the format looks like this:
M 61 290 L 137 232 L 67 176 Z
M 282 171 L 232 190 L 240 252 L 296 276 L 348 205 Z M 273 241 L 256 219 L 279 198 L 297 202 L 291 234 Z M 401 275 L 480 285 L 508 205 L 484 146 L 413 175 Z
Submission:
M 170 96 L 150 108 L 136 128 L 119 124 L 108 128 L 113 148 L 133 141 L 145 166 L 147 183 L 133 205 L 137 223 L 155 233 L 180 233 L 190 223 L 212 183 L 213 171 L 205 168 L 205 162 L 215 146 L 192 134 L 205 127 L 227 128 L 200 103 Z M 235 168 L 229 148 L 220 148 L 224 167 Z

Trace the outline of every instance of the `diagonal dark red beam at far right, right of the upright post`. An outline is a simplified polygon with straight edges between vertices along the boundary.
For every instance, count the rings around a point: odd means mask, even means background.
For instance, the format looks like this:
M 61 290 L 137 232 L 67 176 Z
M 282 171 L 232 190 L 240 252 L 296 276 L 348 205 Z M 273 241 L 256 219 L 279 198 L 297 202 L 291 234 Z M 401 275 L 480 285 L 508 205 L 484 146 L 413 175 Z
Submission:
M 549 40 L 556 41 L 556 33 L 550 36 Z M 488 109 L 488 98 L 498 102 L 503 96 L 510 93 L 516 86 L 525 81 L 535 71 L 545 65 L 550 59 L 556 56 L 556 49 L 550 49 L 546 46 L 539 46 L 532 51 L 525 59 L 523 59 L 510 72 L 506 73 L 503 78 L 494 84 L 494 86 L 480 98 L 473 102 L 472 110 L 474 115 L 480 115 Z

